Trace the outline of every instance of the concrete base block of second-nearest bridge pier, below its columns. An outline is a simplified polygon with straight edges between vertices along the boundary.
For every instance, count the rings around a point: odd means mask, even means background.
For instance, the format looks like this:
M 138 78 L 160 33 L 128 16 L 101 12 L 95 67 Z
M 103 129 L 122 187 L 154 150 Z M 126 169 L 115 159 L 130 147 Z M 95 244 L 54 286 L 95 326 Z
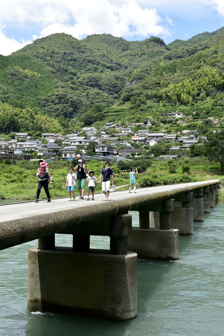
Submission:
M 127 246 L 137 252 L 139 258 L 176 260 L 179 258 L 179 232 L 177 229 L 133 227 Z

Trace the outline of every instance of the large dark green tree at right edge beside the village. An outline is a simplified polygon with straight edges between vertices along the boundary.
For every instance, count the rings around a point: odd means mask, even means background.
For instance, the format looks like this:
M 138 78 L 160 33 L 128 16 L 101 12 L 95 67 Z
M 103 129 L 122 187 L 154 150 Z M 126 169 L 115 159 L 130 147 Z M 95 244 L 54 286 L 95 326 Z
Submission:
M 224 167 L 224 130 L 207 135 L 207 142 L 204 144 L 206 156 L 210 161 L 218 161 L 221 166 L 221 173 Z

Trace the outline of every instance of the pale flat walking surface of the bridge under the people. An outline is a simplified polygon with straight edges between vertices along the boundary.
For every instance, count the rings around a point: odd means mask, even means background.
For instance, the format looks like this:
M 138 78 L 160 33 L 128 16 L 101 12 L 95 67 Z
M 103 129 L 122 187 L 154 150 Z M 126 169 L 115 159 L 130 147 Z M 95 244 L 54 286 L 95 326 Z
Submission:
M 189 191 L 187 187 L 191 188 L 192 186 L 200 187 L 202 184 L 209 184 L 209 183 L 218 183 L 218 180 L 211 180 L 211 181 L 203 181 L 203 182 L 191 182 L 191 183 L 181 183 L 181 184 L 173 184 L 173 185 L 163 185 L 157 187 L 147 187 L 147 188 L 139 188 L 137 189 L 137 193 L 129 194 L 127 191 L 119 191 L 119 192 L 111 192 L 109 196 L 109 200 L 107 203 L 111 204 L 113 201 L 124 200 L 127 201 L 128 199 L 133 200 L 134 198 L 139 198 L 139 196 L 147 196 L 153 195 L 155 193 L 164 193 L 167 192 L 167 198 L 171 197 L 173 192 L 178 190 L 178 188 L 186 188 L 186 192 Z M 43 193 L 44 191 L 42 191 Z M 77 193 L 77 191 L 76 191 Z M 20 218 L 26 218 L 30 216 L 37 216 L 37 215 L 45 215 L 52 212 L 62 211 L 62 210 L 75 210 L 81 207 L 92 207 L 105 203 L 105 195 L 103 193 L 95 194 L 95 201 L 86 201 L 87 195 L 84 196 L 84 200 L 76 200 L 73 202 L 69 202 L 68 198 L 63 199 L 55 199 L 52 200 L 51 203 L 47 203 L 46 201 L 40 201 L 38 204 L 34 202 L 25 202 L 25 203 L 17 203 L 17 204 L 10 204 L 10 205 L 2 205 L 0 207 L 0 222 L 9 221 L 9 220 L 16 220 Z M 91 193 L 90 193 L 91 198 Z

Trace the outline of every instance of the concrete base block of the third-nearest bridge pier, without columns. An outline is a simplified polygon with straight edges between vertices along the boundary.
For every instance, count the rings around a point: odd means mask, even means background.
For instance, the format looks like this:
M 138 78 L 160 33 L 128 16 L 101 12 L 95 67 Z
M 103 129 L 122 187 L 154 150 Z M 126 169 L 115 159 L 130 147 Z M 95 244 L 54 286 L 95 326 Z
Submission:
M 179 235 L 193 235 L 193 208 L 175 208 L 170 213 L 170 225 L 179 230 Z

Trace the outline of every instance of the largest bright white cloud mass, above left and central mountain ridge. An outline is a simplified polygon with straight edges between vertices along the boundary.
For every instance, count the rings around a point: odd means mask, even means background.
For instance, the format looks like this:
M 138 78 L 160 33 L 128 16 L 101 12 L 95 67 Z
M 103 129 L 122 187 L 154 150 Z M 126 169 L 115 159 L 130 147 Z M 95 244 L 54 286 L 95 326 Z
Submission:
M 31 25 L 35 26 L 34 38 L 62 32 L 76 38 L 102 33 L 124 38 L 171 36 L 171 29 L 167 28 L 157 10 L 151 5 L 140 6 L 138 0 L 1 1 L 0 21 L 5 24 L 6 31 L 8 27 L 28 30 Z M 166 21 L 172 26 L 170 18 Z M 7 50 L 13 51 L 13 46 L 16 50 L 26 43 L 8 39 L 4 34 L 3 38 Z

